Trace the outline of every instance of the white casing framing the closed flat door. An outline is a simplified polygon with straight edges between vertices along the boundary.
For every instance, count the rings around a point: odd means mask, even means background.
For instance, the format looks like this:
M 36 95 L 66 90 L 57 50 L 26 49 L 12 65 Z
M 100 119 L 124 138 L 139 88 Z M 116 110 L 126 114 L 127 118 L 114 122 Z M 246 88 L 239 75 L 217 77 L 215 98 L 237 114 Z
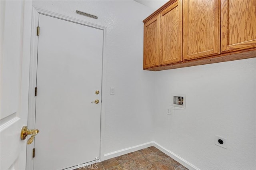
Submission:
M 47 10 L 43 10 L 40 8 L 33 7 L 32 8 L 32 30 L 31 30 L 31 53 L 30 53 L 30 75 L 29 75 L 29 97 L 28 97 L 28 127 L 36 128 L 35 127 L 35 107 L 36 107 L 36 97 L 35 87 L 36 87 L 36 70 L 37 70 L 37 50 L 38 50 L 38 36 L 36 35 L 37 26 L 39 22 L 39 14 L 44 14 L 47 16 L 52 16 L 55 18 L 60 18 L 62 20 L 67 20 L 70 22 L 83 24 L 86 26 L 91 26 L 94 28 L 102 29 L 103 30 L 103 53 L 102 53 L 102 109 L 101 109 L 101 121 L 100 121 L 100 159 L 94 162 L 100 162 L 104 160 L 104 134 L 105 134 L 105 99 L 106 99 L 106 62 L 104 60 L 104 53 L 105 53 L 105 46 L 106 46 L 106 27 L 96 25 L 93 23 L 85 22 L 83 20 L 78 20 L 76 18 L 72 18 L 69 16 L 64 16 L 62 14 L 57 14 L 54 12 L 50 12 Z M 34 142 L 27 146 L 27 156 L 26 156 L 26 169 L 33 170 L 34 167 L 34 160 L 32 158 L 32 150 L 34 148 Z M 31 154 L 30 154 L 31 153 Z M 94 163 L 92 162 L 92 163 Z M 73 168 L 70 168 L 70 170 Z M 69 170 L 69 169 L 66 169 Z

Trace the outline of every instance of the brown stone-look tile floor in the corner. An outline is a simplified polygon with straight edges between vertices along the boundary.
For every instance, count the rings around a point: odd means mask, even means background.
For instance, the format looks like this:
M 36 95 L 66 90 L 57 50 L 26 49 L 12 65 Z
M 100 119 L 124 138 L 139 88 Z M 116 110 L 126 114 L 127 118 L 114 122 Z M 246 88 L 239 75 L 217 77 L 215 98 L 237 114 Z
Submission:
M 82 170 L 188 170 L 154 146 L 111 158 Z M 81 170 L 81 169 L 75 169 Z

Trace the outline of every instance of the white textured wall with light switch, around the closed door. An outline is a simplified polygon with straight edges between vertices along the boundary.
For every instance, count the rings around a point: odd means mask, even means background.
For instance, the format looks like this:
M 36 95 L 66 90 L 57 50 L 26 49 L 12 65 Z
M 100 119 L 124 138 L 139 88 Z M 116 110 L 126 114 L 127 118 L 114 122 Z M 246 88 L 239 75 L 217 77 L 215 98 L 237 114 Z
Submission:
M 152 10 L 130 1 L 33 1 L 33 6 L 106 26 L 104 154 L 153 140 L 153 72 L 142 70 L 143 22 Z M 76 14 L 80 10 L 98 16 Z M 110 95 L 110 87 L 115 95 Z

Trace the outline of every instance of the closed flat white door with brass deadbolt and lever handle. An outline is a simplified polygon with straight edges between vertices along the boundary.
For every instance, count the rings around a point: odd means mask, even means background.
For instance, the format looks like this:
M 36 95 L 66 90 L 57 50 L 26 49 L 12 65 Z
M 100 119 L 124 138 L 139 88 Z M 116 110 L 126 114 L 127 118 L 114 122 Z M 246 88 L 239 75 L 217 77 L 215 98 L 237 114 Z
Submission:
M 34 170 L 96 160 L 103 30 L 42 14 L 39 26 Z

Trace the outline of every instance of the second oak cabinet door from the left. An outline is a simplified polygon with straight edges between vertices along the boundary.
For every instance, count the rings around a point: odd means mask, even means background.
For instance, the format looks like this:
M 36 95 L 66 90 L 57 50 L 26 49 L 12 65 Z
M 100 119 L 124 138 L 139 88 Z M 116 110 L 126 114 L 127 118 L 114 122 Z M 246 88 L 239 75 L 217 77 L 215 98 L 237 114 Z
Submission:
M 182 1 L 160 15 L 160 65 L 182 61 Z

